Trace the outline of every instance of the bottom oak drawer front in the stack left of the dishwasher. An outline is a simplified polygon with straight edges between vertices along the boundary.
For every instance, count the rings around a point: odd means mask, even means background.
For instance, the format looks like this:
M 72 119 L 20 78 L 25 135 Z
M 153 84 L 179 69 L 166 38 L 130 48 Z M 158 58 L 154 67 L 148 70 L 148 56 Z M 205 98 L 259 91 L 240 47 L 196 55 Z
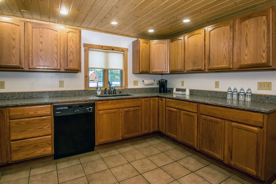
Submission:
M 11 161 L 52 154 L 52 136 L 10 142 Z

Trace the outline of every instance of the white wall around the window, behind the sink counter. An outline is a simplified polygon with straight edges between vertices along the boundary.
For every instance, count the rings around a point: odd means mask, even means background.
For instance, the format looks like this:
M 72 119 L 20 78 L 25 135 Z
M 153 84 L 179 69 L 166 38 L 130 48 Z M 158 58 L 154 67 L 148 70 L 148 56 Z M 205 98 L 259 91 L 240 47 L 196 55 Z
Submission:
M 50 73 L 0 71 L 0 81 L 5 81 L 5 89 L 0 89 L 0 92 L 84 89 L 83 43 L 128 48 L 128 87 L 156 87 L 156 85 L 144 86 L 142 84 L 142 79 L 152 78 L 159 80 L 161 79 L 161 75 L 132 74 L 133 40 L 136 39 L 125 36 L 82 30 L 82 72 Z M 59 88 L 59 80 L 64 80 L 64 88 Z M 138 86 L 133 86 L 133 80 L 138 80 Z

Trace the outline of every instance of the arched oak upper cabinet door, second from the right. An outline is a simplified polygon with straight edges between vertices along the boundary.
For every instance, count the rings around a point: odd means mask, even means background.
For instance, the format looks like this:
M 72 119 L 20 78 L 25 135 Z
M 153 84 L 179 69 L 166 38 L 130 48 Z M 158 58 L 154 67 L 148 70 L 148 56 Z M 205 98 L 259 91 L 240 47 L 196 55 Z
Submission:
M 233 21 L 206 28 L 206 69 L 231 69 L 233 50 Z

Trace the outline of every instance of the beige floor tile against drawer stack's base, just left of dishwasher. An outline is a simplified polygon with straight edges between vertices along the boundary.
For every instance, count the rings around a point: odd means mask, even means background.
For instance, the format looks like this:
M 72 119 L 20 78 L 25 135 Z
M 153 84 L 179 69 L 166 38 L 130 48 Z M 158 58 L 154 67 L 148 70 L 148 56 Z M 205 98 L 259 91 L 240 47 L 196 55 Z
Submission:
M 50 160 L 48 162 L 33 164 L 30 175 L 32 176 L 54 170 L 56 170 L 56 160 Z

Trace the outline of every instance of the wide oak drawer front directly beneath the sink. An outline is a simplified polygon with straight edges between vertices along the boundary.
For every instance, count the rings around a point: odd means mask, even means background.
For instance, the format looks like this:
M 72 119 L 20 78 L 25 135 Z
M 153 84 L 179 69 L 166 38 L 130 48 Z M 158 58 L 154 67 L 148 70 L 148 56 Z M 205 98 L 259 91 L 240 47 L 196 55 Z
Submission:
M 105 101 L 97 102 L 97 110 L 136 107 L 140 105 L 141 105 L 141 98 L 105 100 Z

